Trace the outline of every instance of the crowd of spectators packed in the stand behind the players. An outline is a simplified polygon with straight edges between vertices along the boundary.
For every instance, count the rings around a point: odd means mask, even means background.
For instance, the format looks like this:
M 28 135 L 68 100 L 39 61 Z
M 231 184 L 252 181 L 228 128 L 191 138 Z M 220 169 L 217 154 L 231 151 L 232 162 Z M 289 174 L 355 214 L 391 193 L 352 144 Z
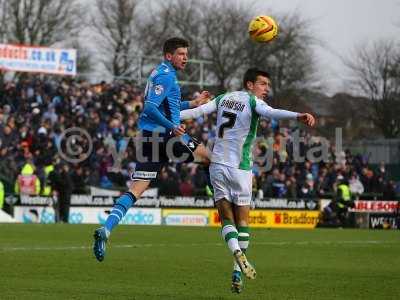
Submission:
M 5 82 L 0 86 L 0 180 L 10 191 L 25 163 L 34 165 L 39 178 L 44 176 L 44 166 L 51 163 L 56 168 L 69 165 L 73 193 L 85 193 L 90 185 L 125 186 L 135 167 L 135 150 L 127 138 L 138 133 L 142 107 L 143 89 L 128 83 L 93 85 L 38 77 Z M 64 130 L 71 127 L 85 129 L 93 143 L 90 156 L 79 163 L 65 161 L 58 151 Z M 190 121 L 187 131 L 204 143 L 212 143 L 215 115 Z M 365 155 L 350 151 L 336 154 L 334 145 L 324 148 L 321 138 L 274 120 L 260 120 L 257 137 L 253 167 L 256 197 L 329 197 L 338 178 L 347 179 L 355 194 L 395 197 L 396 185 L 385 165 L 373 170 Z M 303 142 L 298 144 L 296 137 Z M 88 146 L 88 141 L 75 142 L 76 147 Z M 126 148 L 117 169 L 112 169 L 113 148 Z M 328 154 L 329 162 L 299 159 L 310 152 L 317 158 Z M 197 163 L 171 163 L 162 170 L 157 186 L 165 196 L 207 195 L 206 170 Z

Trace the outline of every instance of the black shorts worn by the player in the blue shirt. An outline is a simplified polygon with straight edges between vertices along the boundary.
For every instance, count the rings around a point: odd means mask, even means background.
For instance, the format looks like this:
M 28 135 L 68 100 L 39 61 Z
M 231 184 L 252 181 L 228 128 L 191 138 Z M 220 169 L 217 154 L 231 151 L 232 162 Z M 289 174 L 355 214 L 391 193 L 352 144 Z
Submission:
M 188 134 L 176 137 L 172 133 L 143 130 L 135 139 L 136 167 L 132 180 L 156 179 L 168 162 L 192 162 L 198 145 Z

